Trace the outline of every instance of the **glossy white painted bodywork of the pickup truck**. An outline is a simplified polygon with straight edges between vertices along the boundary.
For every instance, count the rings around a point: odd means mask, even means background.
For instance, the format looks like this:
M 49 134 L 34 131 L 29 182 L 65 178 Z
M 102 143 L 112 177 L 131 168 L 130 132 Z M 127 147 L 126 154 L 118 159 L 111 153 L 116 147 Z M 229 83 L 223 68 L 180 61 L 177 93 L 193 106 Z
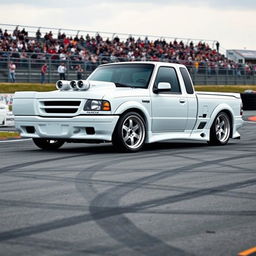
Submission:
M 149 62 L 140 62 L 149 63 Z M 194 93 L 187 94 L 179 71 L 180 64 L 151 62 L 154 70 L 147 89 L 116 88 L 111 82 L 90 81 L 87 91 L 53 91 L 47 93 L 20 92 L 14 97 L 16 127 L 24 137 L 50 137 L 62 139 L 111 140 L 118 118 L 122 113 L 138 109 L 147 124 L 146 142 L 169 139 L 209 140 L 209 129 L 216 115 L 227 110 L 232 116 L 233 137 L 238 137 L 243 121 L 240 116 L 239 94 Z M 125 63 L 115 63 L 122 65 Z M 129 62 L 132 64 L 132 62 Z M 136 62 L 138 64 L 138 62 Z M 111 65 L 111 64 L 110 64 Z M 181 94 L 154 93 L 153 86 L 160 66 L 173 67 L 180 82 Z M 90 78 L 89 78 L 90 79 Z M 88 99 L 104 99 L 111 103 L 111 111 L 88 112 L 83 109 Z M 81 102 L 75 113 L 42 112 L 42 101 Z M 40 115 L 40 116 L 39 116 Z M 204 129 L 197 129 L 206 122 Z M 28 134 L 25 126 L 34 126 L 35 134 Z M 88 135 L 84 127 L 94 127 L 96 133 Z M 201 135 L 204 134 L 204 137 Z

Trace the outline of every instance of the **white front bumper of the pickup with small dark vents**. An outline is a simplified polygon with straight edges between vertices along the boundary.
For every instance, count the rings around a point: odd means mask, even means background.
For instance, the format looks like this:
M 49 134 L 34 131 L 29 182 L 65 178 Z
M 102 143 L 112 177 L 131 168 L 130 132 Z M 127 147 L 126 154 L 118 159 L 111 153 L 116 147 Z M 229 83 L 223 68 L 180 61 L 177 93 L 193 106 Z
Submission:
M 47 118 L 15 116 L 22 137 L 111 141 L 118 115 Z

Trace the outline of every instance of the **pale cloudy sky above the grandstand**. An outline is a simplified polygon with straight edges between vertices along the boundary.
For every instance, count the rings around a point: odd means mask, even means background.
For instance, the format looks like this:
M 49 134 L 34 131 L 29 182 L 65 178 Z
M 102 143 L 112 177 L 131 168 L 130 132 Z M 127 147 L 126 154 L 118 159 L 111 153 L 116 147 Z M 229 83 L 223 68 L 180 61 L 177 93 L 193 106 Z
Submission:
M 256 0 L 0 0 L 0 10 L 0 24 L 217 40 L 222 51 L 256 50 Z

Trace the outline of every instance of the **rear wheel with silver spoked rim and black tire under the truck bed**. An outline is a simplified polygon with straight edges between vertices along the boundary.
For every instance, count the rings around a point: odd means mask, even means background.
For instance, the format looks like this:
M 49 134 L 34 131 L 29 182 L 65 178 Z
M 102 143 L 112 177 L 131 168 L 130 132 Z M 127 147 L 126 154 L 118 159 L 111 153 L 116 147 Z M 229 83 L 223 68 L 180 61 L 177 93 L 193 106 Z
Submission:
M 220 112 L 210 129 L 209 145 L 221 146 L 226 145 L 231 135 L 231 121 L 230 117 L 225 112 Z

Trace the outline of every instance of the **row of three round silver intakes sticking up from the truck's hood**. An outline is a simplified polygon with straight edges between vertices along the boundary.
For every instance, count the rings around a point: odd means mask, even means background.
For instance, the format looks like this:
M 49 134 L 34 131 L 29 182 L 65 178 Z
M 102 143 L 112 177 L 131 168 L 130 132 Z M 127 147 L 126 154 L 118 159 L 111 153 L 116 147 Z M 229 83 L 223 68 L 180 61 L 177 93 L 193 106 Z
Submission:
M 90 83 L 88 80 L 59 80 L 56 82 L 56 88 L 60 91 L 86 91 L 90 88 Z

